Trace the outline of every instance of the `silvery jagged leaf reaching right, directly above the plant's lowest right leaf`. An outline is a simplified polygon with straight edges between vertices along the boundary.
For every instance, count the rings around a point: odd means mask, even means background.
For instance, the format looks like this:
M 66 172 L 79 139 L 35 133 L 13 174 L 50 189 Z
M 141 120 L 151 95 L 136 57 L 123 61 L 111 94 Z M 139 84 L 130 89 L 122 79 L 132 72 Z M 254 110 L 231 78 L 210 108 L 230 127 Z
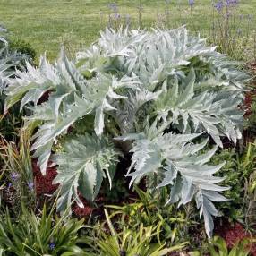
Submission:
M 192 69 L 183 83 L 175 80 L 165 86 L 156 102 L 156 111 L 164 121 L 172 118 L 181 132 L 205 131 L 222 147 L 220 137 L 225 136 L 234 143 L 241 139 L 243 111 L 239 106 L 242 102 L 241 94 L 235 91 L 198 92 Z

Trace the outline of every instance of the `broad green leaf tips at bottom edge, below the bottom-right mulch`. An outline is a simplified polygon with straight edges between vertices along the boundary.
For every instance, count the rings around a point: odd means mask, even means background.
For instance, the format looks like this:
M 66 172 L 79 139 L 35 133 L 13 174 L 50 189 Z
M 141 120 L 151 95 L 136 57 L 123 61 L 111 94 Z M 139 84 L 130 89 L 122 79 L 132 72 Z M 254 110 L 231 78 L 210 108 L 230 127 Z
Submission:
M 225 240 L 214 236 L 209 243 L 209 253 L 211 256 L 246 256 L 250 255 L 250 245 L 252 245 L 250 239 L 244 238 L 236 243 L 231 250 L 228 250 Z

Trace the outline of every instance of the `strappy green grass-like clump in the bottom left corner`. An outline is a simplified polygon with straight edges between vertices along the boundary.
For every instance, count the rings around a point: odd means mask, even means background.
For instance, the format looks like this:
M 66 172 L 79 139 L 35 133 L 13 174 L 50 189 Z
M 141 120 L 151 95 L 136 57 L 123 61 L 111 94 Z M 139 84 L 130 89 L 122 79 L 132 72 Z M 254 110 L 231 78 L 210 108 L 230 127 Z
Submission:
M 18 219 L 10 217 L 7 210 L 0 222 L 0 247 L 4 255 L 62 255 L 72 252 L 78 243 L 78 232 L 83 219 L 59 218 L 53 208 L 48 214 L 46 206 L 40 215 L 24 207 Z

